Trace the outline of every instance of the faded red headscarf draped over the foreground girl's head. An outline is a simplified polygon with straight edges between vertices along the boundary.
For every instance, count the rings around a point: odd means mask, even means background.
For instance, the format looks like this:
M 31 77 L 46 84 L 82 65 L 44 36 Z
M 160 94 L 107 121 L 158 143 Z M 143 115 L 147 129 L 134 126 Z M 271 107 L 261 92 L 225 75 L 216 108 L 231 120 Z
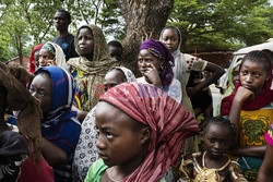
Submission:
M 149 93 L 150 90 L 150 93 Z M 192 114 L 162 89 L 139 83 L 110 88 L 100 100 L 119 108 L 135 121 L 151 128 L 151 143 L 142 165 L 123 181 L 159 181 L 175 165 L 186 137 L 200 131 Z

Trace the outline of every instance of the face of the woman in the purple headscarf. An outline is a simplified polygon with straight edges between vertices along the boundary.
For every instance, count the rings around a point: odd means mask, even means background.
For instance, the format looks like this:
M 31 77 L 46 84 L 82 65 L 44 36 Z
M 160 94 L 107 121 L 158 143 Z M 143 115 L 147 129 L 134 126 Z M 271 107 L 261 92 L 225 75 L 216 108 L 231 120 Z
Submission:
M 150 53 L 147 49 L 142 49 L 138 57 L 138 65 L 142 75 L 144 75 L 144 73 L 149 71 L 149 68 L 152 68 L 151 64 L 153 64 L 159 72 L 159 69 L 164 64 L 164 62 L 163 60 L 159 60 L 155 56 Z

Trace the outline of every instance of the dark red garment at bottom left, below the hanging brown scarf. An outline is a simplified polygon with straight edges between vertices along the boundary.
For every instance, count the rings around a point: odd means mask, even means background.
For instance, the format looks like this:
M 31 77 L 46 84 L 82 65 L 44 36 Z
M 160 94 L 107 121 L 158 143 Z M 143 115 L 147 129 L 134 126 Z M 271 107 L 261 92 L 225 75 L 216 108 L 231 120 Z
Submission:
M 48 165 L 48 162 L 40 156 L 38 162 L 34 162 L 33 158 L 27 158 L 21 165 L 21 172 L 19 177 L 19 182 L 54 182 L 54 169 Z

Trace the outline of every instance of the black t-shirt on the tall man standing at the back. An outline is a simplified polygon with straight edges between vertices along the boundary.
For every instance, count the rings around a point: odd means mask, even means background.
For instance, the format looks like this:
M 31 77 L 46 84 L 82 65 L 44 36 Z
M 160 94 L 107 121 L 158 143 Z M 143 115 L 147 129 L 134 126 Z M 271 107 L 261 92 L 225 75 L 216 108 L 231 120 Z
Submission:
M 72 34 L 69 34 L 66 37 L 56 37 L 52 43 L 56 43 L 62 48 L 67 61 L 70 58 L 79 57 L 75 52 L 74 36 Z

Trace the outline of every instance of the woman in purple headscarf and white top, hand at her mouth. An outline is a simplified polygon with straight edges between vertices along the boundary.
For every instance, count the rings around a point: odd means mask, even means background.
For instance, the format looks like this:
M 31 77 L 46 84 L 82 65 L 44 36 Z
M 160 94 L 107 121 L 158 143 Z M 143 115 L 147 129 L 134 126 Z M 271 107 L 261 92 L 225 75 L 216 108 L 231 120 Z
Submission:
M 181 102 L 181 85 L 174 78 L 171 70 L 174 58 L 161 41 L 147 39 L 141 44 L 138 65 L 142 77 L 136 82 L 161 87 L 165 94 Z

